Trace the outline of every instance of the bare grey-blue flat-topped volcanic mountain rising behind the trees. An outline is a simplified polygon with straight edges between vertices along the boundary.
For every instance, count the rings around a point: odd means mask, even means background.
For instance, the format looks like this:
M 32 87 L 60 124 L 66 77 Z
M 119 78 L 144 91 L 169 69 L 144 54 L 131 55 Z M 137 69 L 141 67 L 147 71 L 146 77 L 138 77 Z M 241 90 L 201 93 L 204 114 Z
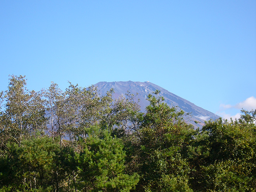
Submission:
M 202 128 L 204 125 L 204 121 L 208 121 L 209 119 L 218 119 L 220 116 L 209 112 L 201 107 L 196 106 L 195 104 L 185 100 L 178 95 L 175 95 L 168 90 L 155 85 L 154 83 L 150 83 L 149 81 L 145 82 L 134 82 L 134 81 L 115 81 L 115 82 L 99 82 L 95 84 L 97 86 L 99 93 L 101 95 L 105 95 L 107 91 L 111 88 L 114 88 L 113 99 L 118 99 L 120 95 L 126 96 L 125 94 L 127 91 L 132 93 L 135 97 L 140 99 L 140 107 L 142 112 L 145 112 L 145 107 L 149 105 L 149 101 L 147 100 L 147 96 L 152 94 L 154 91 L 159 90 L 159 96 L 164 97 L 164 102 L 166 102 L 169 106 L 180 107 L 185 113 L 190 113 L 190 116 L 186 116 L 185 120 L 188 121 L 190 124 L 194 125 L 195 128 L 199 127 Z M 195 123 L 197 121 L 199 123 Z

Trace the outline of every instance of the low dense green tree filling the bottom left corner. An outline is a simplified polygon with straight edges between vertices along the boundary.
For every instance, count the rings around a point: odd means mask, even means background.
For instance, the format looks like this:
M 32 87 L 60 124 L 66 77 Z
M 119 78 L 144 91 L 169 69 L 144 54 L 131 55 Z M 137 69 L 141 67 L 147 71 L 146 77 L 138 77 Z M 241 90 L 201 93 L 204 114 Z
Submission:
M 69 166 L 67 148 L 48 137 L 8 144 L 0 158 L 0 187 L 11 191 L 63 191 Z

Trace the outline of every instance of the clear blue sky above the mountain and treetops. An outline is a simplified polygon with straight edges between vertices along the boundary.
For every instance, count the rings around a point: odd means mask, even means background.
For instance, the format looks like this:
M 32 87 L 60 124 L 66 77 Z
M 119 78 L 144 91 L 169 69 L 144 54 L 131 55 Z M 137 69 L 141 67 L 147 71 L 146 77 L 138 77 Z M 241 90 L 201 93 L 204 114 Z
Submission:
M 0 90 L 150 81 L 235 115 L 256 105 L 256 1 L 1 0 L 0 64 Z

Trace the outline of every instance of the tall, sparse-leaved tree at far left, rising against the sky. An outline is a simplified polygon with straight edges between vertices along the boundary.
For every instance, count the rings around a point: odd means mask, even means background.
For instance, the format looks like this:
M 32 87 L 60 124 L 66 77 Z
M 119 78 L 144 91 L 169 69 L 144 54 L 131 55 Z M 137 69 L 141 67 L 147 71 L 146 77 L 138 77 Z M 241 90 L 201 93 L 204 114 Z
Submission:
M 4 95 L 6 104 L 1 115 L 1 137 L 5 141 L 21 143 L 22 137 L 45 128 L 47 119 L 42 95 L 40 92 L 29 92 L 24 78 L 12 75 Z

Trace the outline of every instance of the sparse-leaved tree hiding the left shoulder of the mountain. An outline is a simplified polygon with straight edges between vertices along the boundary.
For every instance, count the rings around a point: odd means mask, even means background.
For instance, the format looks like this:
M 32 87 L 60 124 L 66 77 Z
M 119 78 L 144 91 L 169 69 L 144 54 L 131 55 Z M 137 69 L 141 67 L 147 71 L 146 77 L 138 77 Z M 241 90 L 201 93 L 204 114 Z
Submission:
M 95 86 L 82 88 L 70 83 L 66 89 L 66 113 L 71 141 L 85 138 L 84 128 L 96 125 L 102 119 L 110 100 L 109 95 L 100 97 Z

